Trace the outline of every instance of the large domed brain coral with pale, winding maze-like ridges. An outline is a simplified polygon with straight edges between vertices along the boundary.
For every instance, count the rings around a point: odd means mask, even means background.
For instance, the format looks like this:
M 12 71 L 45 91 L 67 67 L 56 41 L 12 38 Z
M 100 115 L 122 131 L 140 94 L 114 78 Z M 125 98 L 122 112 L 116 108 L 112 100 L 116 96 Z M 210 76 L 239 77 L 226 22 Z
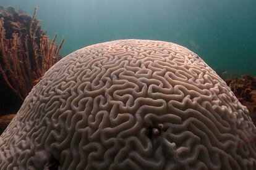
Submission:
M 197 54 L 88 46 L 52 67 L 0 137 L 1 169 L 255 169 L 247 108 Z

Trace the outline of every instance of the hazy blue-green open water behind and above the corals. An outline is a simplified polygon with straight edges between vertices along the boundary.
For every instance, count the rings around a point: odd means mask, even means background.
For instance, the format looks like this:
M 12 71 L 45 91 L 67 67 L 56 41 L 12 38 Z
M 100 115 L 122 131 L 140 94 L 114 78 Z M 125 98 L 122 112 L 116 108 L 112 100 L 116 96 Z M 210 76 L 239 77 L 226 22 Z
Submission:
M 36 18 L 62 55 L 114 39 L 171 41 L 196 52 L 215 70 L 256 75 L 255 0 L 0 0 Z M 60 39 L 59 39 L 60 40 Z

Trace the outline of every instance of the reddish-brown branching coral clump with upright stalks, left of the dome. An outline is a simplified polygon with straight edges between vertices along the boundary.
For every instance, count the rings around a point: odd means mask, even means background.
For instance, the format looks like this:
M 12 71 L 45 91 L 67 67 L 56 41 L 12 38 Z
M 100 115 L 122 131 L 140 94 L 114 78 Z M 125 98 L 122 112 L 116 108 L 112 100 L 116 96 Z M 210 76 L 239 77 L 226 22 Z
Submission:
M 21 100 L 60 59 L 56 36 L 50 42 L 38 20 L 13 8 L 0 7 L 0 76 Z M 12 34 L 12 37 L 11 37 Z

